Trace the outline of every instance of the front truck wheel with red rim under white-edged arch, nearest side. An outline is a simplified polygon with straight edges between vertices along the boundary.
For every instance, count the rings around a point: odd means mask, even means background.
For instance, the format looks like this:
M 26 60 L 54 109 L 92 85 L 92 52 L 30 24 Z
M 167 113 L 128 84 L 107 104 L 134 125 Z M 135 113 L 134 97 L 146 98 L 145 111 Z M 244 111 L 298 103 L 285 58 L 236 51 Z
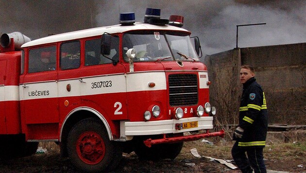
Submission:
M 122 153 L 115 147 L 105 127 L 94 118 L 76 123 L 67 138 L 68 157 L 77 169 L 84 172 L 103 172 L 118 164 Z

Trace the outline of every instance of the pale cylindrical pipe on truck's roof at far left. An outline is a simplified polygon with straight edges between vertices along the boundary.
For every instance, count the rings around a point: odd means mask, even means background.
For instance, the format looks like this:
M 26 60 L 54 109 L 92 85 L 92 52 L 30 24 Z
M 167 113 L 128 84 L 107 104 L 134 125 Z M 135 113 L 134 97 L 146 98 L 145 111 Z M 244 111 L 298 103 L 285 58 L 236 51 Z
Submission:
M 31 38 L 21 34 L 20 32 L 2 34 L 0 37 L 1 47 L 8 48 L 11 44 L 11 38 L 14 38 L 15 50 L 19 50 L 24 43 L 27 43 L 32 40 Z

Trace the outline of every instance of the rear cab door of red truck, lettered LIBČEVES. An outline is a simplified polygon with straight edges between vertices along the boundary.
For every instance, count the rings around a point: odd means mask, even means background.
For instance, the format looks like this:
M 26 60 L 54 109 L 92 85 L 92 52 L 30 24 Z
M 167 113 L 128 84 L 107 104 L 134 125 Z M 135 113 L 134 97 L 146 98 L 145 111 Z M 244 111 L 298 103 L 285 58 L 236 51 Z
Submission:
M 27 54 L 28 72 L 21 86 L 25 123 L 44 124 L 47 129 L 47 124 L 59 122 L 56 46 L 30 49 Z

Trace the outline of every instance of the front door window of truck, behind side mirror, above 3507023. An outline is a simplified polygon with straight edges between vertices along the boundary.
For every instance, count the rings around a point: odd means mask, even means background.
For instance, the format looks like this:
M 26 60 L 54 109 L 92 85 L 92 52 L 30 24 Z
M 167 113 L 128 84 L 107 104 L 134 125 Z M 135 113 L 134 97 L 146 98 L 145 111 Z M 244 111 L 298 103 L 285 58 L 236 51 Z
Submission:
M 113 39 L 114 38 L 114 39 Z M 111 52 L 108 58 L 118 62 L 119 60 L 119 37 L 113 37 Z M 85 42 L 85 66 L 113 63 L 112 60 L 103 57 L 101 52 L 101 39 L 88 40 Z

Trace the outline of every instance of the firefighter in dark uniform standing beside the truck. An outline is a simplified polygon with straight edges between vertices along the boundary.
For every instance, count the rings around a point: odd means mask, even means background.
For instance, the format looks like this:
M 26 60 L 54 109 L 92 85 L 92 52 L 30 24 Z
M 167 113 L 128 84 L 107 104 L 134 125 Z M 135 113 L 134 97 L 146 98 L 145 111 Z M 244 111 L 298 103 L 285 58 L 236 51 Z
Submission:
M 256 82 L 255 70 L 251 66 L 241 67 L 240 83 L 243 85 L 243 90 L 239 125 L 233 134 L 233 140 L 236 142 L 232 148 L 232 156 L 242 173 L 252 173 L 253 169 L 255 173 L 266 173 L 263 161 L 263 148 L 268 129 L 265 94 Z

